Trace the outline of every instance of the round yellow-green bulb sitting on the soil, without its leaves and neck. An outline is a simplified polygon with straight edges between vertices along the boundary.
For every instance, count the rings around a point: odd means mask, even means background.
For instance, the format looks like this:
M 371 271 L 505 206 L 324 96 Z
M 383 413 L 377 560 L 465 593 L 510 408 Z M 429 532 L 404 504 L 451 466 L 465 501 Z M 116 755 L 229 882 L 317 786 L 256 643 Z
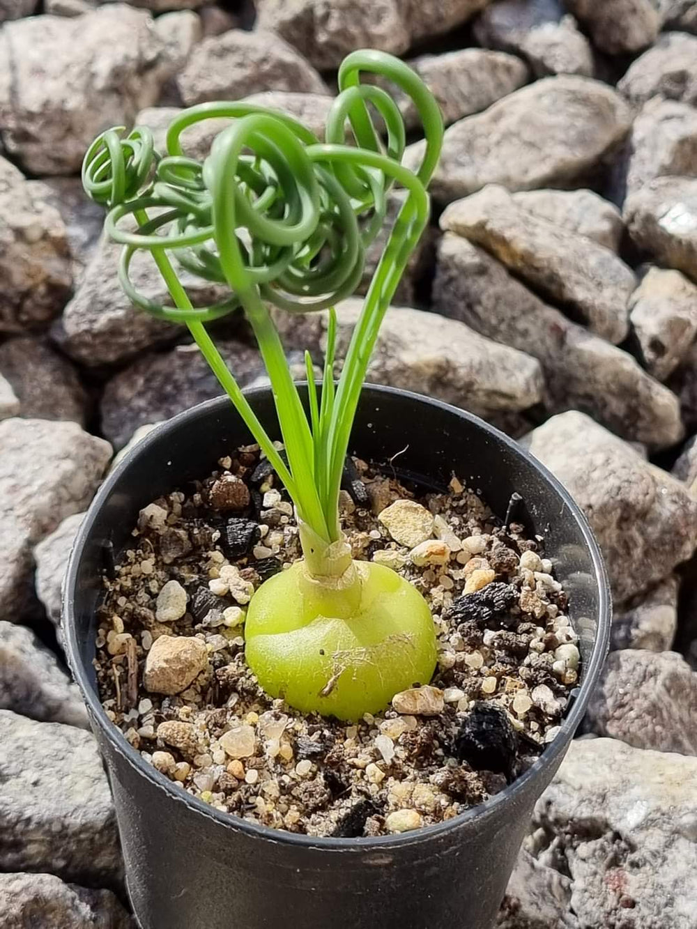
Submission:
M 347 589 L 309 576 L 303 561 L 252 598 L 245 657 L 271 697 L 302 713 L 355 721 L 400 690 L 427 684 L 436 634 L 424 597 L 395 571 L 354 562 Z

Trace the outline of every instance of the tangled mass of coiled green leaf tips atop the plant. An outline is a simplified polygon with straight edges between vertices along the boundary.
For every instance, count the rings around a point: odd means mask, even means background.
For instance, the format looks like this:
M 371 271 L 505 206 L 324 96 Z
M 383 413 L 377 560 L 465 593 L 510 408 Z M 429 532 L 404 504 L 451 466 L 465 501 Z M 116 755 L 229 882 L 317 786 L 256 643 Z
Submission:
M 401 166 L 405 130 L 394 100 L 361 83 L 370 73 L 400 85 L 421 114 L 427 154 L 415 174 Z M 383 226 L 395 181 L 413 194 L 398 219 L 398 251 L 413 247 L 427 216 L 440 111 L 414 72 L 382 53 L 354 52 L 339 85 L 324 144 L 295 119 L 243 103 L 180 113 L 164 156 L 147 128 L 125 135 L 116 127 L 95 139 L 85 155 L 85 190 L 110 210 L 105 228 L 124 245 L 120 280 L 138 307 L 170 321 L 212 321 L 239 307 L 250 288 L 289 312 L 332 307 L 362 280 L 365 252 Z M 221 117 L 230 125 L 204 163 L 186 157 L 182 133 Z M 158 304 L 132 281 L 138 251 L 171 255 L 192 274 L 227 283 L 231 293 L 211 307 Z

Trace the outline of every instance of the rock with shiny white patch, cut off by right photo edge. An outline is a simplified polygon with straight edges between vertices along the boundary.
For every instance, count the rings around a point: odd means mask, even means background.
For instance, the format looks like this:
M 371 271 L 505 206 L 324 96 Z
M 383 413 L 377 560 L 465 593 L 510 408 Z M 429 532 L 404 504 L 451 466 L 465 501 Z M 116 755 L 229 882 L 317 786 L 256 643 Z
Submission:
M 657 177 L 625 201 L 639 248 L 697 281 L 697 177 Z

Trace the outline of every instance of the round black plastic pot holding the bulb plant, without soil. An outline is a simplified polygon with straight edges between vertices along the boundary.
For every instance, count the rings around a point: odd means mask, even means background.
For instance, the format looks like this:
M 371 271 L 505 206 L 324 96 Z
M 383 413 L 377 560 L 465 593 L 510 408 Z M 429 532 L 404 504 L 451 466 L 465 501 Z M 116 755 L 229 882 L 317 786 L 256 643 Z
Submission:
M 267 388 L 248 393 L 273 434 Z M 146 764 L 99 704 L 95 657 L 99 575 L 127 541 L 138 510 L 201 478 L 249 441 L 226 398 L 159 426 L 114 470 L 75 542 L 63 623 L 109 771 L 128 891 L 143 929 L 488 929 L 504 895 L 533 805 L 559 767 L 604 661 L 610 590 L 591 530 L 546 469 L 467 412 L 400 390 L 364 389 L 352 448 L 407 478 L 445 487 L 453 472 L 504 518 L 546 537 L 546 555 L 570 594 L 581 636 L 581 684 L 557 739 L 504 792 L 458 818 L 399 836 L 311 839 L 218 813 Z

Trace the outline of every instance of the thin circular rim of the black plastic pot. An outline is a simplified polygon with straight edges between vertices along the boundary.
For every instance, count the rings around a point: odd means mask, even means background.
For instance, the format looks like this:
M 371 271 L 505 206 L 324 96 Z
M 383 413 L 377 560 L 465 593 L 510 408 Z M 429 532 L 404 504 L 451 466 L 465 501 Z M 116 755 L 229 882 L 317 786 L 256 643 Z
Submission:
M 269 386 L 258 386 L 246 389 L 244 394 L 247 399 L 254 401 L 256 396 L 267 393 L 269 390 Z M 215 807 L 204 803 L 203 800 L 183 792 L 181 788 L 175 787 L 171 780 L 166 778 L 164 774 L 161 774 L 155 767 L 149 765 L 141 757 L 140 752 L 130 745 L 125 739 L 124 734 L 120 729 L 114 726 L 101 706 L 99 696 L 92 688 L 85 673 L 85 666 L 80 657 L 80 648 L 77 641 L 76 625 L 74 622 L 74 592 L 80 560 L 85 543 L 91 534 L 97 514 L 99 513 L 99 509 L 110 496 L 113 486 L 122 475 L 125 474 L 138 455 L 148 449 L 151 444 L 159 442 L 168 432 L 178 430 L 182 425 L 186 425 L 189 420 L 199 417 L 202 413 L 230 404 L 230 399 L 226 395 L 222 395 L 214 399 L 205 400 L 203 403 L 199 403 L 189 410 L 180 412 L 176 416 L 156 425 L 147 436 L 142 438 L 138 444 L 125 455 L 122 461 L 113 468 L 112 472 L 104 480 L 90 504 L 85 518 L 80 524 L 80 528 L 72 545 L 68 569 L 63 581 L 61 610 L 61 628 L 68 664 L 72 671 L 73 678 L 78 687 L 80 687 L 83 700 L 85 700 L 87 710 L 89 711 L 93 723 L 99 724 L 101 732 L 104 737 L 110 741 L 114 751 L 120 754 L 129 765 L 136 768 L 141 776 L 149 779 L 154 786 L 169 794 L 171 800 L 183 803 L 187 805 L 191 811 L 212 819 L 217 826 L 232 831 L 246 832 L 248 835 L 254 836 L 257 839 L 274 844 L 288 844 L 295 845 L 298 848 L 311 848 L 323 851 L 347 851 L 349 849 L 354 849 L 357 852 L 367 852 L 373 848 L 385 849 L 404 847 L 405 845 L 416 844 L 421 841 L 427 841 L 428 839 L 435 839 L 440 836 L 441 833 L 461 827 L 465 823 L 478 823 L 478 825 L 484 827 L 486 820 L 493 815 L 493 812 L 499 805 L 515 801 L 518 794 L 524 791 L 528 781 L 536 778 L 550 765 L 554 765 L 559 753 L 563 755 L 563 753 L 566 752 L 568 743 L 571 741 L 571 739 L 569 739 L 569 732 L 573 732 L 583 718 L 591 690 L 598 680 L 598 674 L 600 673 L 610 648 L 612 595 L 607 569 L 605 568 L 603 558 L 600 554 L 598 542 L 585 518 L 584 512 L 581 510 L 580 506 L 575 503 L 569 491 L 564 488 L 558 478 L 555 478 L 544 464 L 539 462 L 529 451 L 523 449 L 518 442 L 506 436 L 506 433 L 501 432 L 493 425 L 484 422 L 479 416 L 475 416 L 473 413 L 460 410 L 452 404 L 444 403 L 441 400 L 425 397 L 413 391 L 402 390 L 397 387 L 366 384 L 362 388 L 362 397 L 369 394 L 376 396 L 378 399 L 381 395 L 396 394 L 417 403 L 426 403 L 427 405 L 446 412 L 452 412 L 461 419 L 465 419 L 472 425 L 476 425 L 478 428 L 489 433 L 496 441 L 503 443 L 508 451 L 511 451 L 515 456 L 525 460 L 527 464 L 532 464 L 533 468 L 542 474 L 542 477 L 546 479 L 547 483 L 558 493 L 566 510 L 568 510 L 569 514 L 575 519 L 583 533 L 585 545 L 593 565 L 594 580 L 598 585 L 598 631 L 593 643 L 590 659 L 586 662 L 584 682 L 578 688 L 571 711 L 563 718 L 556 738 L 546 746 L 545 751 L 542 752 L 534 764 L 518 779 L 513 781 L 513 783 L 508 784 L 503 791 L 496 793 L 493 797 L 490 797 L 481 804 L 470 807 L 465 810 L 464 813 L 460 813 L 453 819 L 447 819 L 440 823 L 424 826 L 418 830 L 403 832 L 397 835 L 375 837 L 360 836 L 357 838 L 322 838 L 271 829 L 269 826 L 257 825 L 243 818 L 235 817 L 230 813 L 223 813 Z

